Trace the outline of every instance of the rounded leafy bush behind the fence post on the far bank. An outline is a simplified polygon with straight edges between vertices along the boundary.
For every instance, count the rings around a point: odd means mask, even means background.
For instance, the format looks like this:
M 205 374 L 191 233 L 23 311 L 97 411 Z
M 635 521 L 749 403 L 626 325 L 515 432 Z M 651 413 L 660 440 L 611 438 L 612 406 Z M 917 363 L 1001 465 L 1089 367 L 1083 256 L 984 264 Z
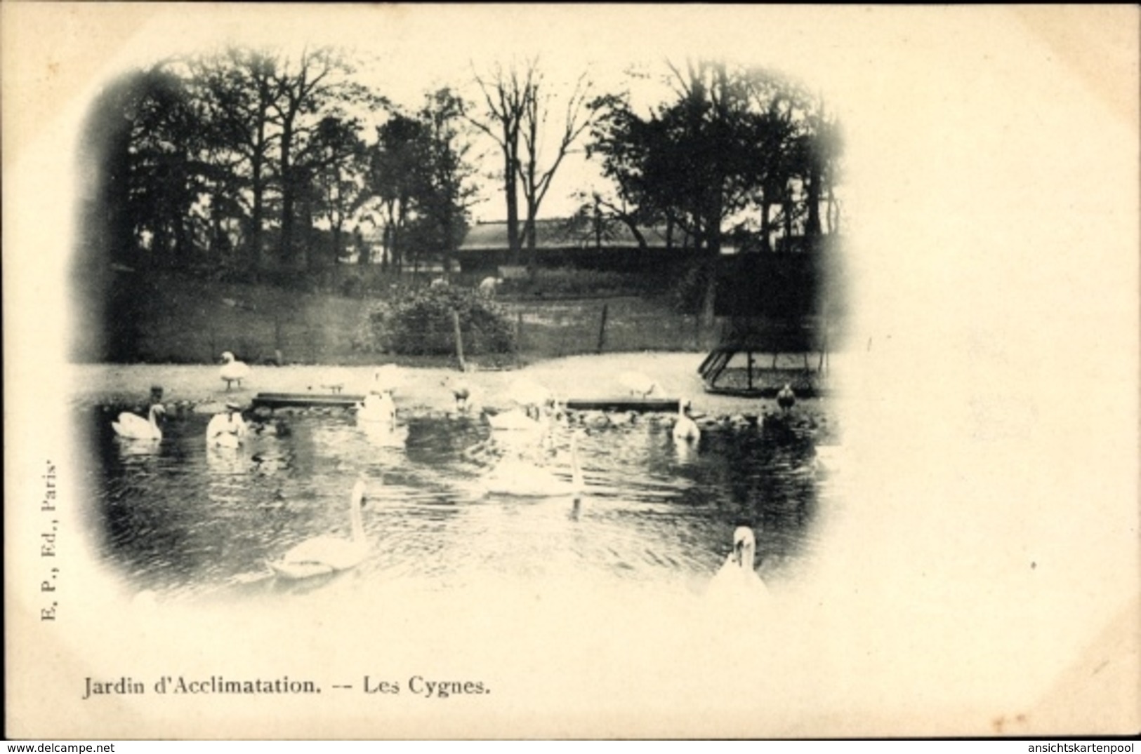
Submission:
M 512 353 L 511 320 L 471 288 L 445 286 L 397 290 L 367 314 L 374 347 L 399 355 L 455 353 L 452 312 L 460 315 L 464 354 Z

